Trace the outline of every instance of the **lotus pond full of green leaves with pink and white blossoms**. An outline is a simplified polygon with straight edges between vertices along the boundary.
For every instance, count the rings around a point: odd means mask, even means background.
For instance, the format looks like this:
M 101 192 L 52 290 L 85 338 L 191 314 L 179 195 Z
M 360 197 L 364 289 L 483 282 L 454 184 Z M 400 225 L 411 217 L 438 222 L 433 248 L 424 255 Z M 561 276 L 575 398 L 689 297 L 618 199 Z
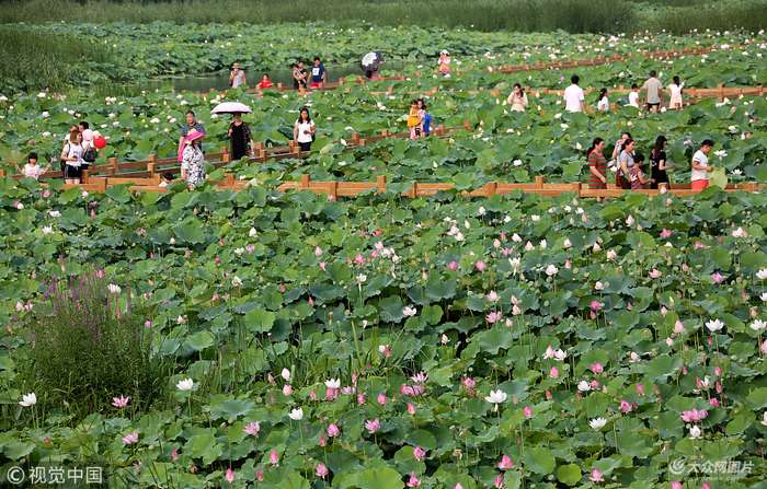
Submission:
M 131 32 L 44 28 L 107 43 Z M 195 59 L 215 58 L 206 70 L 218 69 L 232 58 L 216 37 L 227 28 L 190 26 L 156 49 L 172 59 L 184 53 L 174 43 L 196 36 Z M 764 97 L 572 115 L 543 95 L 515 114 L 505 105 L 512 83 L 563 88 L 570 72 L 488 70 L 701 45 L 717 49 L 662 69 L 638 54 L 576 71 L 587 86 L 629 85 L 651 68 L 695 86 L 754 85 L 765 80 L 764 34 L 457 31 L 447 47 L 462 72 L 446 80 L 431 75 L 404 30 L 388 32 L 408 80 L 307 97 L 3 89 L 8 170 L 27 151 L 55 156 L 80 119 L 108 136 L 100 159 L 172 154 L 190 108 L 209 144 L 225 145 L 228 120 L 208 115 L 222 100 L 253 108 L 259 141 L 284 144 L 305 104 L 319 129 L 308 160 L 231 163 L 251 183 L 239 193 L 174 184 L 165 194 L 89 195 L 0 179 L 3 485 L 13 467 L 98 466 L 105 485 L 125 488 L 764 487 L 764 193 L 399 195 L 413 181 L 458 190 L 536 175 L 573 182 L 591 139 L 621 130 L 644 152 L 666 135 L 679 181 L 710 137 L 731 181 L 764 182 Z M 259 36 L 270 34 L 243 34 L 251 47 Z M 359 48 L 345 38 L 331 31 L 323 40 L 339 60 Z M 119 66 L 136 67 L 137 56 L 142 72 L 187 72 L 162 68 L 150 48 L 125 44 Z M 354 132 L 402 131 L 409 101 L 427 92 L 437 124 L 470 130 L 346 148 Z M 274 190 L 299 174 L 385 174 L 390 184 L 340 201 Z

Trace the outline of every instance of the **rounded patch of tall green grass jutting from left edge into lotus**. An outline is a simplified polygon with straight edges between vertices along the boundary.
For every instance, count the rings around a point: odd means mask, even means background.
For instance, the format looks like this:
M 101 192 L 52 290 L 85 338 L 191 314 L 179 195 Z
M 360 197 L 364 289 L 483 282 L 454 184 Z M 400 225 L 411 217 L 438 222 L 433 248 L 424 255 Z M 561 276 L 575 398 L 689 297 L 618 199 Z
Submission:
M 4 88 L 30 91 L 106 81 L 104 73 L 90 67 L 108 59 L 103 46 L 73 36 L 23 25 L 0 26 L 0 80 Z

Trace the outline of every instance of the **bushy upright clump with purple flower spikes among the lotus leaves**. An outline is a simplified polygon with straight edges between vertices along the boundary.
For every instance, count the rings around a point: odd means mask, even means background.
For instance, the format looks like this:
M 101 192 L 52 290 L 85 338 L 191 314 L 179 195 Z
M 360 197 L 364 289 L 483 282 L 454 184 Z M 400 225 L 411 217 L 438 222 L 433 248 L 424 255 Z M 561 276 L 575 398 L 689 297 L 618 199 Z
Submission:
M 152 329 L 129 292 L 92 272 L 55 281 L 45 295 L 47 306 L 36 307 L 30 324 L 28 372 L 50 407 L 69 406 L 79 416 L 107 408 L 122 395 L 141 409 L 160 395 L 164 362 L 151 356 Z

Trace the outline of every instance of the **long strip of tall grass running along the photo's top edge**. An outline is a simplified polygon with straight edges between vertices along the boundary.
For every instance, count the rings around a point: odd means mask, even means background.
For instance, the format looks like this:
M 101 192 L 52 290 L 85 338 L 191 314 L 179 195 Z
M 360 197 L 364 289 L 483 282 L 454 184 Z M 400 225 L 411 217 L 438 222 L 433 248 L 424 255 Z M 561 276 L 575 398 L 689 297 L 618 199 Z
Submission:
M 631 2 L 627 0 L 32 0 L 5 4 L 12 7 L 2 9 L 0 22 L 267 24 L 300 21 L 356 23 L 365 20 L 381 25 L 522 32 L 563 30 L 571 33 L 614 32 L 631 25 Z

